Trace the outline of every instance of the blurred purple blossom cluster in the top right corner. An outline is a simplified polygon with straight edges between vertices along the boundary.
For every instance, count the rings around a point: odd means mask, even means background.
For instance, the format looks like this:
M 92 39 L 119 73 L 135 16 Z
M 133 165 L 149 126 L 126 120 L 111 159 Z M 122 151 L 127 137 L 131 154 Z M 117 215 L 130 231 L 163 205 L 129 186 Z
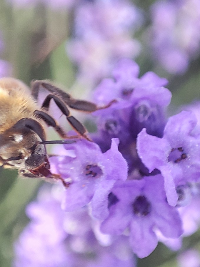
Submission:
M 151 7 L 149 42 L 154 58 L 170 73 L 184 73 L 199 55 L 199 10 L 199 0 L 159 0 Z

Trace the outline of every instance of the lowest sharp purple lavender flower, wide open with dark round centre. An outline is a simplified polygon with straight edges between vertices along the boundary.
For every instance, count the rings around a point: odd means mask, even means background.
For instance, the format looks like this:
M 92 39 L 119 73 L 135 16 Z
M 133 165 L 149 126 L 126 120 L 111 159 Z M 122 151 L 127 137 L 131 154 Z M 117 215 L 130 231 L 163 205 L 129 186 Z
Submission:
M 166 203 L 161 175 L 118 182 L 112 193 L 119 201 L 111 205 L 101 230 L 120 235 L 128 227 L 130 245 L 140 258 L 148 256 L 157 246 L 154 228 L 168 238 L 177 238 L 182 234 L 176 208 Z

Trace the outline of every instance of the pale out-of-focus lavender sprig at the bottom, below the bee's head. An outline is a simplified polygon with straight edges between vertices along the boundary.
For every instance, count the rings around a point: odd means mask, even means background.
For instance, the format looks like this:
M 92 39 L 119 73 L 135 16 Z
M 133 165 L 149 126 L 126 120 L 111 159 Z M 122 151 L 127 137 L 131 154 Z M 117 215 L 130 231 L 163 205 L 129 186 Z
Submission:
M 15 243 L 14 267 L 136 266 L 126 236 L 112 238 L 101 233 L 104 246 L 100 245 L 87 208 L 65 212 L 60 208 L 61 195 L 57 185 L 51 190 L 44 187 L 38 200 L 27 206 L 31 222 Z

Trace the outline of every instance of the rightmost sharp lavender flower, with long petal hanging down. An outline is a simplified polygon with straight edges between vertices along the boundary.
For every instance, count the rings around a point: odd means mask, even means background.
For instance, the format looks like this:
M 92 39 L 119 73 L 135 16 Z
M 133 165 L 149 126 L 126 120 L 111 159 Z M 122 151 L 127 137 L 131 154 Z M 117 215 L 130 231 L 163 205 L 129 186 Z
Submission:
M 200 175 L 200 137 L 193 136 L 196 117 L 182 111 L 169 118 L 163 138 L 151 136 L 143 129 L 137 139 L 137 151 L 151 172 L 159 169 L 165 180 L 165 191 L 170 205 L 178 200 L 176 187 L 198 181 Z

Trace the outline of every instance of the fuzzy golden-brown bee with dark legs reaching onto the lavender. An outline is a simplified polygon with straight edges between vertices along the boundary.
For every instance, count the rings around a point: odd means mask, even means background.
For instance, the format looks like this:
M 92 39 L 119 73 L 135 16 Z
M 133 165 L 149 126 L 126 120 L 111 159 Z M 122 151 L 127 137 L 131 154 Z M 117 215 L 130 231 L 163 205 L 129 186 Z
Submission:
M 49 94 L 45 97 L 41 107 L 38 103 L 39 90 L 46 89 Z M 66 120 L 78 133 L 67 136 L 58 122 L 49 114 L 51 99 L 66 116 Z M 46 152 L 47 144 L 62 144 L 75 142 L 74 138 L 83 137 L 92 141 L 86 128 L 70 113 L 70 108 L 84 112 L 94 112 L 107 108 L 108 105 L 98 107 L 96 104 L 74 99 L 70 94 L 54 86 L 46 80 L 31 82 L 31 90 L 26 84 L 14 78 L 0 79 L 0 164 L 2 168 L 18 169 L 19 175 L 30 178 L 52 178 L 61 180 L 68 187 L 63 178 L 52 174 Z M 46 128 L 54 130 L 65 140 L 46 140 Z

